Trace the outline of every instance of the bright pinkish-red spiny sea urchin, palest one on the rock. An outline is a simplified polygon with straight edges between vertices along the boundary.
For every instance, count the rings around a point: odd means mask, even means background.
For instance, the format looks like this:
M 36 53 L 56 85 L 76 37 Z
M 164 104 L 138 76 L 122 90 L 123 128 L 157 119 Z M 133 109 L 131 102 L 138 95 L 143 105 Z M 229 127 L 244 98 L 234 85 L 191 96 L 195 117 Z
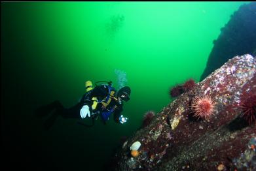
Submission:
M 214 112 L 215 102 L 211 99 L 210 95 L 201 95 L 194 97 L 191 104 L 194 117 L 209 119 Z

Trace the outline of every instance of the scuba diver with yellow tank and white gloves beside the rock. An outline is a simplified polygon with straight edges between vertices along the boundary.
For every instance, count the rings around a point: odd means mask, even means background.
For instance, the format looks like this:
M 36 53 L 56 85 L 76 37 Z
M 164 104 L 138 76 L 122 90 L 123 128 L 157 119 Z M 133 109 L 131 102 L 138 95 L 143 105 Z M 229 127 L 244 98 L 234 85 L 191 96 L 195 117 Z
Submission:
M 99 82 L 96 82 L 99 83 Z M 64 118 L 86 118 L 92 119 L 92 125 L 85 125 L 78 122 L 85 127 L 92 127 L 94 121 L 101 117 L 101 120 L 106 124 L 111 114 L 117 123 L 126 123 L 127 117 L 121 115 L 124 101 L 130 100 L 131 89 L 128 86 L 122 87 L 116 91 L 112 86 L 112 82 L 107 84 L 97 85 L 93 88 L 92 82 L 85 82 L 86 93 L 82 95 L 81 101 L 71 108 L 64 108 L 59 101 L 54 101 L 46 106 L 41 106 L 35 110 L 37 116 L 45 116 L 51 113 L 52 115 L 45 122 L 45 129 L 50 129 L 56 117 L 62 116 Z

